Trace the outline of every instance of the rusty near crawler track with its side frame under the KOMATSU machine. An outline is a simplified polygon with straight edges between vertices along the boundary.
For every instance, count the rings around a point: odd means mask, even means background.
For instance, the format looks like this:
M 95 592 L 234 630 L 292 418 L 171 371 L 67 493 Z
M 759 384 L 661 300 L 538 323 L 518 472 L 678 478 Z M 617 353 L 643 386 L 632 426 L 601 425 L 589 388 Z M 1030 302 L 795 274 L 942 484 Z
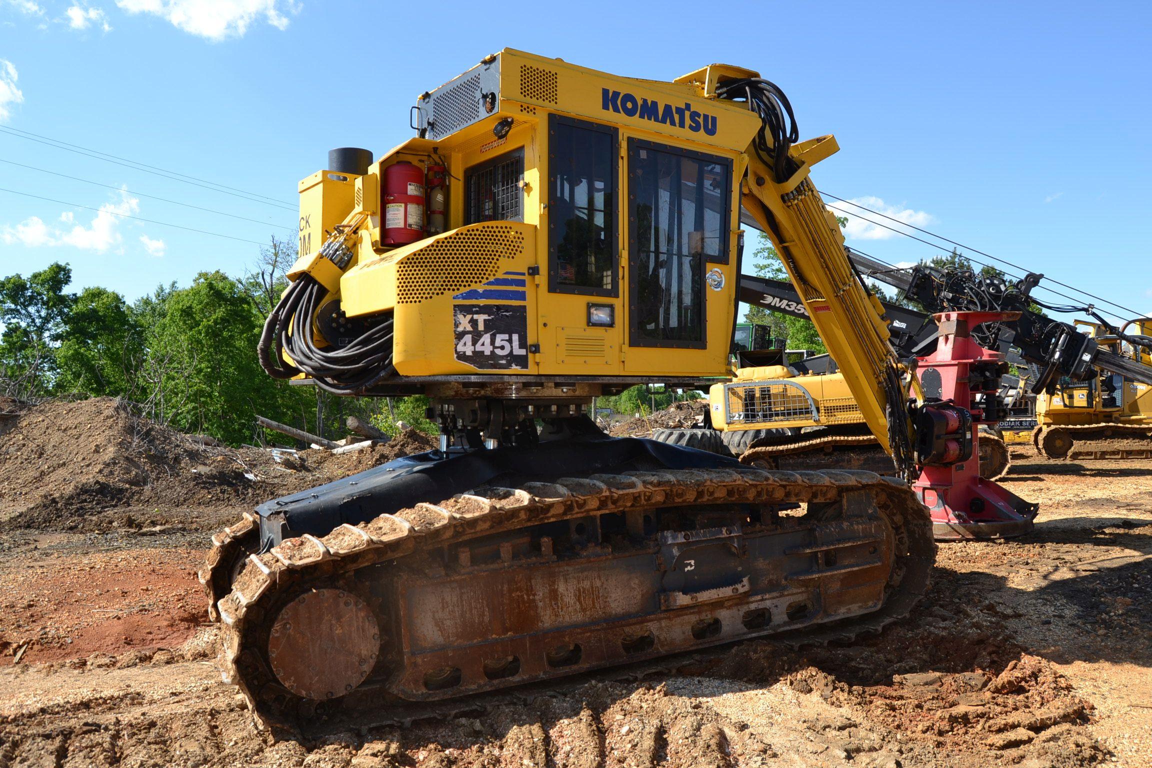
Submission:
M 797 504 L 808 504 L 809 515 L 773 511 Z M 647 517 L 655 527 L 645 527 Z M 738 520 L 749 526 L 734 535 Z M 704 533 L 718 525 L 729 533 Z M 723 539 L 726 552 L 738 552 L 730 562 L 742 570 L 721 567 L 711 580 L 679 583 L 680 594 L 704 598 L 696 603 L 662 599 L 673 563 L 657 555 L 660 526 L 700 534 L 707 552 Z M 379 707 L 796 628 L 806 628 L 803 637 L 813 642 L 844 640 L 907 615 L 927 586 L 934 548 L 930 518 L 911 491 L 869 472 L 635 471 L 478 488 L 251 556 L 218 602 L 225 676 L 240 684 L 258 722 L 291 724 L 298 699 L 320 693 L 332 693 L 338 708 Z M 382 659 L 358 687 L 359 672 L 348 663 L 356 654 L 335 640 L 335 654 L 317 651 L 314 640 L 293 641 L 304 660 L 295 662 L 296 674 L 309 669 L 308 660 L 317 667 L 308 682 L 283 669 L 288 639 L 311 611 L 305 601 L 294 619 L 295 609 L 276 607 L 290 607 L 302 588 L 336 585 L 376 595 L 377 615 L 389 622 L 379 633 L 388 644 L 376 644 Z M 721 595 L 718 586 L 735 586 L 737 594 Z M 420 596 L 415 603 L 406 596 L 409 587 Z M 434 616 L 460 606 L 467 606 L 460 615 Z M 343 610 L 336 619 L 342 626 L 371 615 L 355 602 Z M 280 619 L 293 629 L 278 640 L 272 661 Z M 312 614 L 312 632 L 331 631 L 332 616 Z M 414 637 L 423 645 L 412 645 Z M 340 670 L 333 656 L 343 659 Z M 344 697 L 334 687 L 349 685 Z

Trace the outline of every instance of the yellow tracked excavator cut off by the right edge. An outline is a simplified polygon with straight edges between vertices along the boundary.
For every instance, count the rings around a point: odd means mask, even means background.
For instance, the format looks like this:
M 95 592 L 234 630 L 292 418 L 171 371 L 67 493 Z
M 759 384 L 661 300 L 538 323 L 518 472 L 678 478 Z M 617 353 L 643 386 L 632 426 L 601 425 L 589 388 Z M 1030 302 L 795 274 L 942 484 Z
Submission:
M 1152 365 L 1152 318 L 1119 329 L 1086 320 L 1076 325 L 1101 348 Z M 1061 379 L 1053 391 L 1037 395 L 1036 419 L 1032 444 L 1047 458 L 1152 458 L 1152 383 L 1146 380 L 1108 370 L 1085 381 Z

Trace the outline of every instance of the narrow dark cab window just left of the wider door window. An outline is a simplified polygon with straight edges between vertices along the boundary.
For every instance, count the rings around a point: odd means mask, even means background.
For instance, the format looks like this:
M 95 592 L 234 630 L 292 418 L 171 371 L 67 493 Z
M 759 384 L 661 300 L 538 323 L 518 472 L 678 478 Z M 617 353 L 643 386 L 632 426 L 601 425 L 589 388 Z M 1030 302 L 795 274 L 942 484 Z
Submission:
M 548 117 L 548 290 L 616 296 L 616 130 Z

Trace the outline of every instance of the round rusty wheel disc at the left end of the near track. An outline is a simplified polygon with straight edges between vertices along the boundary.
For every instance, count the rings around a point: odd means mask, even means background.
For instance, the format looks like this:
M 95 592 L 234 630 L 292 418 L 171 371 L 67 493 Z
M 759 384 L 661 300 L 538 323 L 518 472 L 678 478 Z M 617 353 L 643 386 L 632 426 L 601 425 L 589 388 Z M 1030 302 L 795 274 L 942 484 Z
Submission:
M 268 638 L 272 671 L 298 697 L 351 693 L 372 671 L 380 626 L 367 603 L 343 590 L 312 590 L 280 609 Z

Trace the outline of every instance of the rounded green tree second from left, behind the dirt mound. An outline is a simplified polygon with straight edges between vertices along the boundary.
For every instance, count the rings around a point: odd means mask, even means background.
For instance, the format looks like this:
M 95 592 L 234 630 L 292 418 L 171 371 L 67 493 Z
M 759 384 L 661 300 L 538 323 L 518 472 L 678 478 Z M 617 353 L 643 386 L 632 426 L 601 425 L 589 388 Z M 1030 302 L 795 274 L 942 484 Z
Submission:
M 127 395 L 135 386 L 143 355 L 143 333 L 120 294 L 85 288 L 65 319 L 56 350 L 59 391 Z

